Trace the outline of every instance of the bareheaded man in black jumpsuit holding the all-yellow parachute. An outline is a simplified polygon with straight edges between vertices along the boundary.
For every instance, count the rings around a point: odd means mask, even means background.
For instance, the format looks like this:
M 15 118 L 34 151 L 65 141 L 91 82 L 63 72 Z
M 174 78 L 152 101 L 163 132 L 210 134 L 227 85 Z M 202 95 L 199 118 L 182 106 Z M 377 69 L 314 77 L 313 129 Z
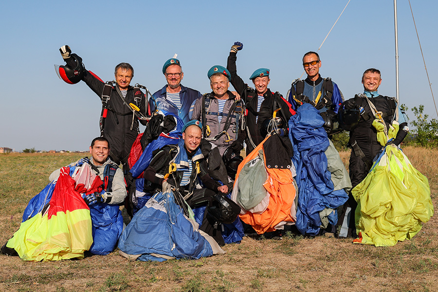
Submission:
M 383 148 L 377 140 L 377 130 L 373 126 L 376 116 L 371 110 L 372 107 L 375 111 L 381 112 L 386 128 L 389 129 L 393 123 L 399 125 L 396 138 L 388 141 L 386 145 L 400 145 L 409 131 L 405 113 L 397 105 L 397 100 L 394 97 L 383 96 L 378 93 L 378 88 L 382 84 L 380 71 L 374 68 L 365 70 L 362 75 L 362 84 L 364 85 L 364 93 L 356 94 L 354 98 L 348 99 L 339 109 L 340 125 L 350 131 L 348 146 L 351 146 L 351 154 L 348 167 L 353 188 L 365 179 L 371 169 L 373 159 Z M 349 222 L 342 219 L 338 220 L 340 223 L 345 222 L 342 225 L 340 237 L 357 236 L 354 220 L 356 207 L 356 201 L 349 194 L 343 210 L 345 215 L 342 214 L 341 217 L 350 217 L 350 220 Z M 353 215 L 349 216 L 350 212 Z

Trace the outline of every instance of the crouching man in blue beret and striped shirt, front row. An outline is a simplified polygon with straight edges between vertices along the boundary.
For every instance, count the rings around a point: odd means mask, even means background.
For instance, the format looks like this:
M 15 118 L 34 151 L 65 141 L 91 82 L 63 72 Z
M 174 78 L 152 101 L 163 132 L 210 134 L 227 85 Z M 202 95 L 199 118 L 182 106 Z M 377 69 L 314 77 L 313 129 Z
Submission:
M 215 223 L 220 224 L 221 220 L 234 221 L 240 209 L 225 198 L 228 187 L 217 183 L 208 174 L 207 164 L 199 147 L 201 129 L 202 125 L 199 121 L 192 120 L 186 123 L 183 127 L 183 139 L 180 139 L 178 145 L 164 146 L 152 158 L 143 177 L 158 189 L 162 189 L 165 183 L 170 183 L 174 187 L 175 201 L 187 216 L 188 210 L 185 202 L 191 208 L 202 206 L 211 208 L 204 212 L 200 229 L 215 238 L 219 245 L 224 245 L 220 229 Z M 222 204 L 224 200 L 228 203 Z M 215 210 L 223 210 L 231 217 L 211 217 L 211 215 L 209 217 L 208 214 Z

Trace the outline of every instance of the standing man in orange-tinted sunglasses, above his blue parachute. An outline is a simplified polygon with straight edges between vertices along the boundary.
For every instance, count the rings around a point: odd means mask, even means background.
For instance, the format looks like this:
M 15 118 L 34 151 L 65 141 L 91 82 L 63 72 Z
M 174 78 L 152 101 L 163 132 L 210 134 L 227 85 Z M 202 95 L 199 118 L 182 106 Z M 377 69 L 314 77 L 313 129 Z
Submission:
M 332 123 L 337 121 L 336 114 L 344 101 L 342 92 L 330 78 L 322 78 L 319 74 L 321 59 L 318 53 L 308 52 L 303 57 L 305 80 L 296 80 L 288 91 L 288 101 L 296 110 L 303 103 L 310 103 L 321 112 L 326 124 L 324 128 L 330 135 Z M 329 120 L 329 122 L 328 122 Z M 331 127 L 331 128 L 330 128 Z

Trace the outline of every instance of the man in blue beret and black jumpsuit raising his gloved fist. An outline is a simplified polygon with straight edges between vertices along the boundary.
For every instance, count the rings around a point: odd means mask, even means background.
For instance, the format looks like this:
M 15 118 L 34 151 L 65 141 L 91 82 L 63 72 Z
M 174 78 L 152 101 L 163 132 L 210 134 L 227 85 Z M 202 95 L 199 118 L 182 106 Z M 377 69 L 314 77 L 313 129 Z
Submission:
M 227 69 L 231 73 L 231 84 L 240 93 L 248 110 L 245 117 L 249 131 L 246 139 L 246 153 L 248 154 L 265 139 L 268 134 L 268 122 L 273 118 L 275 110 L 278 110 L 275 113 L 276 119 L 279 121 L 277 124 L 283 124 L 279 127 L 279 132 L 283 135 L 286 134 L 286 136 L 288 121 L 295 112 L 279 92 L 274 93 L 268 88 L 268 84 L 271 81 L 269 69 L 260 68 L 251 75 L 249 79 L 253 81 L 255 88 L 249 87 L 237 75 L 237 51 L 240 51 L 242 48 L 243 44 L 240 42 L 235 42 L 231 47 Z

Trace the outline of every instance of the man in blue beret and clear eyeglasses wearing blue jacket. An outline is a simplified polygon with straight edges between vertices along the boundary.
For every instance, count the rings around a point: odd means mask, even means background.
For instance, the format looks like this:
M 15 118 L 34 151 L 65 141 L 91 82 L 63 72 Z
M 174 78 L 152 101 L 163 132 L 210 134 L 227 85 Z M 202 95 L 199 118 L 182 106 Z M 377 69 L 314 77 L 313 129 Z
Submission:
M 164 110 L 178 115 L 184 123 L 190 120 L 190 107 L 201 97 L 201 92 L 181 85 L 184 73 L 180 60 L 168 59 L 163 66 L 163 74 L 167 85 L 152 94 L 149 99 L 149 115 L 155 110 Z

